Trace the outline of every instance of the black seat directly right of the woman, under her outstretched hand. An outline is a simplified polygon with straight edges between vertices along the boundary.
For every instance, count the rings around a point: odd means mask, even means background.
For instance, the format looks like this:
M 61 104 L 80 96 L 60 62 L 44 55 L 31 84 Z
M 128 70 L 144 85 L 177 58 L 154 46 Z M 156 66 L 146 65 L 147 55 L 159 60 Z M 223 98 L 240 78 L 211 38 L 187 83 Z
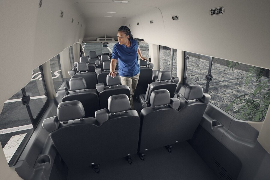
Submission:
M 138 79 L 138 84 L 134 92 L 136 99 L 139 99 L 139 95 L 145 94 L 148 84 L 152 82 L 153 79 L 153 65 L 148 61 L 143 61 L 139 59 L 140 66 L 140 77 Z

